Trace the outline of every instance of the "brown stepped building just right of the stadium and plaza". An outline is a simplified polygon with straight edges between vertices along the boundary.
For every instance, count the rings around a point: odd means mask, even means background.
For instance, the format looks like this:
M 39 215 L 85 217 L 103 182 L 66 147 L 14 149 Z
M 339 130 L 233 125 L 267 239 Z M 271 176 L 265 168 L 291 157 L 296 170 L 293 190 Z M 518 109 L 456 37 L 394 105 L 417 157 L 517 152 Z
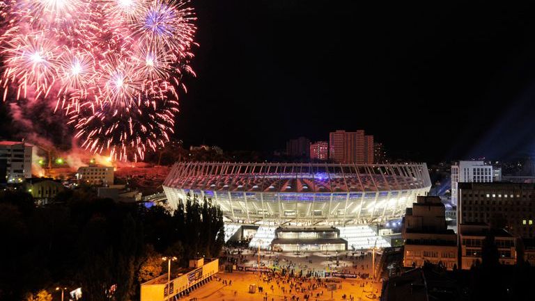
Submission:
M 440 197 L 417 197 L 403 220 L 403 265 L 424 266 L 427 261 L 453 270 L 458 262 L 457 235 L 448 229 Z

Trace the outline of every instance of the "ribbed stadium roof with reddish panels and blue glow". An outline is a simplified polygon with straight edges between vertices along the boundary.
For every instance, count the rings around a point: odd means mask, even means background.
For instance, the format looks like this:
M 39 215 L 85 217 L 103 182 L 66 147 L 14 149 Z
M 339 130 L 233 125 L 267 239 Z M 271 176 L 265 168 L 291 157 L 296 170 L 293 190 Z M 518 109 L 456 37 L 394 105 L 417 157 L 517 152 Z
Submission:
M 426 163 L 212 163 L 173 165 L 164 186 L 187 190 L 351 193 L 428 188 Z

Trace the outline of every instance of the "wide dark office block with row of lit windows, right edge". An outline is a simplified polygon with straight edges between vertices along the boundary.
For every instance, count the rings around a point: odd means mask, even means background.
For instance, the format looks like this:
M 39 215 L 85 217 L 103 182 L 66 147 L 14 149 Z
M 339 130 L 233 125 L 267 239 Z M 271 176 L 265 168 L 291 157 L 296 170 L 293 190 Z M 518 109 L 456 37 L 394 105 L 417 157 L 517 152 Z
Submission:
M 458 225 L 484 222 L 513 236 L 535 237 L 535 184 L 459 183 Z

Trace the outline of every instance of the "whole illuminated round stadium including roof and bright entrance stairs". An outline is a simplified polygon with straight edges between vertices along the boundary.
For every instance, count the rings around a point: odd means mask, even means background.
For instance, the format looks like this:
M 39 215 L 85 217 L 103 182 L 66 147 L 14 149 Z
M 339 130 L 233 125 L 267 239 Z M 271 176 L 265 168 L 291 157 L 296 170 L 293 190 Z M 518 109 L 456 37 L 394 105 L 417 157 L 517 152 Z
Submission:
M 402 218 L 431 180 L 425 163 L 184 162 L 173 165 L 163 188 L 174 209 L 188 194 L 219 205 L 227 240 L 344 250 L 390 245 L 380 225 Z

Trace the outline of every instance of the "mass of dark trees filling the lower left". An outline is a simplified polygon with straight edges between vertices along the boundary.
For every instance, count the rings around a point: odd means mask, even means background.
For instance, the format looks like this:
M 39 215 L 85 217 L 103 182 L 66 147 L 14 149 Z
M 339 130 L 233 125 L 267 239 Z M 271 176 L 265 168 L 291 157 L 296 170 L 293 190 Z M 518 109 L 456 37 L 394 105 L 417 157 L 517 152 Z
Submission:
M 55 201 L 38 207 L 26 193 L 0 193 L 0 300 L 56 286 L 82 287 L 83 300 L 130 300 L 140 283 L 167 272 L 162 257 L 177 257 L 177 269 L 217 257 L 224 243 L 222 212 L 210 200 L 188 196 L 174 214 L 98 199 L 90 188 Z

